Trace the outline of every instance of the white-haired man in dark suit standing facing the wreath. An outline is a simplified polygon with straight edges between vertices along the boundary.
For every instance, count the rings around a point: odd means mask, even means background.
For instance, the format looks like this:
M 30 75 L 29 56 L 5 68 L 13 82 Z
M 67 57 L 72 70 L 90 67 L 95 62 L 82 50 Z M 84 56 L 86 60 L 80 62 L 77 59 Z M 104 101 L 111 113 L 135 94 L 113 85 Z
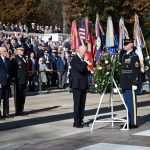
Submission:
M 88 89 L 88 56 L 86 47 L 81 46 L 71 60 L 71 77 L 74 100 L 73 127 L 83 128 L 86 91 Z

